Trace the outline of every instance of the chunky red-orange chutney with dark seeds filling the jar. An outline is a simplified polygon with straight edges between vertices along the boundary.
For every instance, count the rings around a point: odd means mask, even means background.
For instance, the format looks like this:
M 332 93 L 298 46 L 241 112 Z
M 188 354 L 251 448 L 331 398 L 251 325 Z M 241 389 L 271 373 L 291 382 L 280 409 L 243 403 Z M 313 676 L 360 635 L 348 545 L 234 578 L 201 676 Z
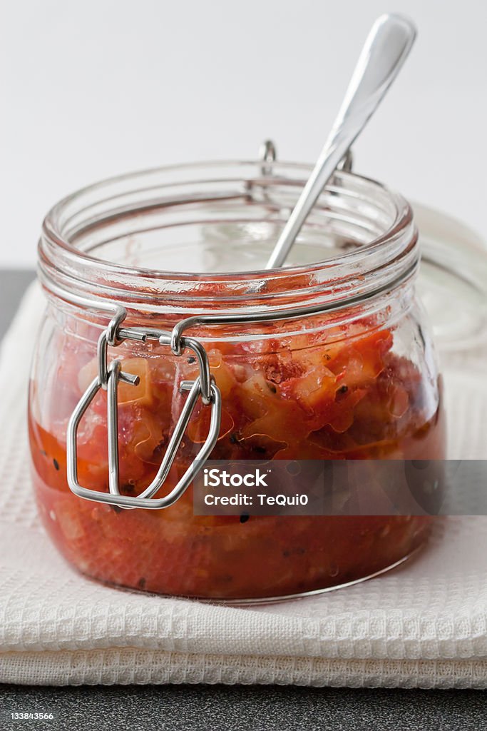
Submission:
M 334 341 L 321 333 L 207 345 L 223 402 L 211 458 L 444 457 L 438 384 L 393 352 L 392 330 L 369 325 L 347 325 Z M 197 370 L 189 355 L 134 352 L 133 345 L 130 352 L 126 345 L 117 356 L 140 383 L 119 387 L 120 491 L 137 495 L 156 474 L 183 404 L 177 385 Z M 93 348 L 64 339 L 55 384 L 59 414 L 51 406 L 50 423 L 42 427 L 34 412 L 29 419 L 42 519 L 85 575 L 160 594 L 258 599 L 372 575 L 426 539 L 428 516 L 199 517 L 191 488 L 166 510 L 121 510 L 77 498 L 66 483 L 66 421 L 96 374 Z M 204 442 L 209 412 L 200 404 L 193 414 L 161 494 Z M 80 484 L 108 491 L 104 392 L 83 417 L 78 452 Z

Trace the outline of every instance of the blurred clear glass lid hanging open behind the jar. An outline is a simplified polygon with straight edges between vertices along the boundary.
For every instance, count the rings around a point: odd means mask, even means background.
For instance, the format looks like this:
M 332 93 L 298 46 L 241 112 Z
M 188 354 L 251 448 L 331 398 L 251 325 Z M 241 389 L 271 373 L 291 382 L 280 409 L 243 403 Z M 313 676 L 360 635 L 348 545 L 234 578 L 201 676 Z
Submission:
M 487 245 L 450 216 L 413 203 L 421 244 L 418 291 L 443 351 L 487 343 Z

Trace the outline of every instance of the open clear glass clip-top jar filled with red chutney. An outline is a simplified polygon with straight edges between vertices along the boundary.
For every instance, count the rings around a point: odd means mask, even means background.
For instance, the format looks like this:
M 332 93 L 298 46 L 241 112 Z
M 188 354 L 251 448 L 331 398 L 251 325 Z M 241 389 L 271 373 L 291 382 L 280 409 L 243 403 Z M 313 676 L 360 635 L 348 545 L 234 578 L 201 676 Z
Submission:
M 197 456 L 445 457 L 407 202 L 337 172 L 288 266 L 264 269 L 308 172 L 277 162 L 161 168 L 98 183 L 48 213 L 32 475 L 47 533 L 88 577 L 269 599 L 376 575 L 425 541 L 429 515 L 193 512 Z

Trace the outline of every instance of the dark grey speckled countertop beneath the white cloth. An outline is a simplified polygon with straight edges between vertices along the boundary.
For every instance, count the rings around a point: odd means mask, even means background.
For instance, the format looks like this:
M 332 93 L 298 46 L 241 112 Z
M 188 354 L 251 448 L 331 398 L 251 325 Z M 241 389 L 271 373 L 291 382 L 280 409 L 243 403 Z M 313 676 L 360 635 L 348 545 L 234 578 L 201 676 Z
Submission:
M 33 276 L 30 271 L 0 272 L 0 337 Z M 12 721 L 9 717 L 26 711 L 53 713 L 55 718 Z M 0 685 L 0 731 L 15 728 L 486 731 L 487 694 L 295 686 Z

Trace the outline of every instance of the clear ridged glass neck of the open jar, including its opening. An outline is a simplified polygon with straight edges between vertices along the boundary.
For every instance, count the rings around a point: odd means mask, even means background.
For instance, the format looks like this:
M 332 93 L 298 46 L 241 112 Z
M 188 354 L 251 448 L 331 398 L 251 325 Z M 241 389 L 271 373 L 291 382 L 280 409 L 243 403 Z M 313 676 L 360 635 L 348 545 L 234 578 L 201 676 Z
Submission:
M 275 240 L 309 168 L 261 162 L 182 165 L 123 175 L 62 200 L 47 214 L 39 241 L 39 273 L 59 303 L 101 313 L 110 303 L 134 320 L 169 322 L 191 315 L 280 312 L 289 308 L 340 311 L 383 306 L 405 291 L 418 267 L 418 236 L 410 206 L 375 181 L 337 172 L 307 220 L 296 256 L 318 262 L 276 270 L 178 272 L 153 268 L 212 235 L 214 251 L 237 241 Z M 210 232 L 210 233 L 209 233 Z M 186 237 L 186 238 L 185 238 Z M 133 257 L 134 242 L 142 242 Z M 304 243 L 303 243 L 304 242 Z M 255 243 L 255 241 L 253 242 Z M 299 247 L 301 246 L 301 249 Z M 307 249 L 306 249 L 307 247 Z M 157 253 L 157 252 L 156 252 Z M 223 254 L 222 254 L 223 256 Z

